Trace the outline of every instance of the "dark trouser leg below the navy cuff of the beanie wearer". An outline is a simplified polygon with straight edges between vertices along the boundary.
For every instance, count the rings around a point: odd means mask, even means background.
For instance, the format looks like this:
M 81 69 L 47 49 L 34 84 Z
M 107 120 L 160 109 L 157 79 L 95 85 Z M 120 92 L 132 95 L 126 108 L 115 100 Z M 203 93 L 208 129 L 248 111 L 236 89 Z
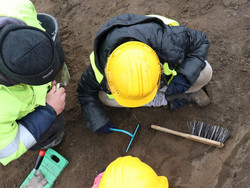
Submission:
M 65 119 L 64 115 L 61 113 L 49 127 L 49 129 L 42 135 L 40 140 L 30 148 L 30 150 L 40 150 L 44 146 L 53 142 L 58 136 L 62 134 L 64 130 Z

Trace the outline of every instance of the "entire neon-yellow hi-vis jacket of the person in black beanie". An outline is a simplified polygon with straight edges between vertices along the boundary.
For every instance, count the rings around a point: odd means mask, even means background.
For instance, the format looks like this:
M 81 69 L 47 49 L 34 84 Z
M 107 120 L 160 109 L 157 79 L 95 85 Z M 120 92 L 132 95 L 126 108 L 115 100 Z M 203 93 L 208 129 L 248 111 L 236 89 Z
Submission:
M 0 1 L 0 16 L 16 18 L 29 26 L 45 30 L 30 0 Z M 37 106 L 45 106 L 49 85 L 19 84 L 7 87 L 0 84 L 0 163 L 3 165 L 20 157 L 36 143 L 33 135 L 17 121 Z

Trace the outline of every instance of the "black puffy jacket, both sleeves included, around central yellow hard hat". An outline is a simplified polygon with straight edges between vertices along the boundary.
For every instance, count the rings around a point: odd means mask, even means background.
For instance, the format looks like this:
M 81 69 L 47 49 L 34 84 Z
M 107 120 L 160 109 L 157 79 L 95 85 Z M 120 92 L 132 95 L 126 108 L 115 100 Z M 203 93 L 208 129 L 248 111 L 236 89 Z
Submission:
M 205 67 L 209 48 L 205 33 L 185 26 L 170 27 L 155 17 L 123 14 L 109 20 L 100 28 L 94 41 L 95 65 L 104 79 L 99 84 L 92 66 L 89 66 L 83 72 L 77 89 L 87 127 L 93 132 L 109 121 L 98 98 L 99 91 L 107 92 L 104 74 L 107 57 L 127 41 L 140 41 L 149 45 L 161 63 L 168 62 L 190 84 L 196 81 Z

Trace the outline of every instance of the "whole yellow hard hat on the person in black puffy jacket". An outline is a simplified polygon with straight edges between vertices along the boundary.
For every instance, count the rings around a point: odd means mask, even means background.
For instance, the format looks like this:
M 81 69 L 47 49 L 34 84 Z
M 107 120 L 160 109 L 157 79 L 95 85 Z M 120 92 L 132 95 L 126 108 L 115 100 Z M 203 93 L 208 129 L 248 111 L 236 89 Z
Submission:
M 111 53 L 105 74 L 115 100 L 125 107 L 138 107 L 154 99 L 160 84 L 161 65 L 150 46 L 130 41 Z

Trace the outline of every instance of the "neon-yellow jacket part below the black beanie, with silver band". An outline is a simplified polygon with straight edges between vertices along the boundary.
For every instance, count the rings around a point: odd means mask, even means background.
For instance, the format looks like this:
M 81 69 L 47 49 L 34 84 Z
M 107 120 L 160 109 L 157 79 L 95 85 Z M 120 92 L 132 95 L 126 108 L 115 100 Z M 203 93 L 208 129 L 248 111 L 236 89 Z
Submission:
M 39 106 L 45 105 L 49 84 L 25 84 L 6 87 L 0 85 L 0 162 L 6 165 L 18 158 L 36 142 L 34 137 L 16 120 L 20 120 Z

